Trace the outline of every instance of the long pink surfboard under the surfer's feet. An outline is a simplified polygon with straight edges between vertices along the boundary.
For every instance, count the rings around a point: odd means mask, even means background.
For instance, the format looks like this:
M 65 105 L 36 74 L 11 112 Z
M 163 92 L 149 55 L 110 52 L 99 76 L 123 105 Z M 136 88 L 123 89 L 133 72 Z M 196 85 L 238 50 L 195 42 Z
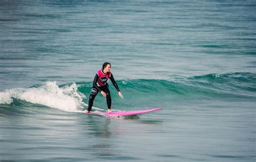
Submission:
M 156 108 L 156 109 L 147 109 L 147 110 L 137 110 L 137 111 L 120 111 L 120 112 L 100 112 L 100 111 L 91 111 L 89 114 L 97 114 L 97 115 L 104 115 L 104 116 L 131 116 L 131 115 L 138 115 L 144 114 L 147 112 L 161 110 L 163 108 Z

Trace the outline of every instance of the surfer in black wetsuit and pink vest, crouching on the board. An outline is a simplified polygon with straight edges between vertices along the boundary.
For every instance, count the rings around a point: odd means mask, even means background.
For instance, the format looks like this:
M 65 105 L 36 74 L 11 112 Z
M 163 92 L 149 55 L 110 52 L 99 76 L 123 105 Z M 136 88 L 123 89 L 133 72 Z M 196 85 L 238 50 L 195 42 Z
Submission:
M 104 97 L 106 97 L 107 112 L 111 112 L 111 96 L 109 91 L 109 84 L 107 84 L 108 79 L 112 81 L 114 87 L 118 91 L 118 95 L 121 98 L 124 98 L 117 86 L 116 81 L 114 80 L 113 74 L 110 72 L 110 68 L 111 68 L 111 64 L 109 62 L 104 62 L 104 64 L 102 65 L 102 69 L 97 71 L 95 78 L 93 80 L 93 86 L 89 96 L 88 108 L 83 112 L 89 113 L 91 111 L 93 100 L 95 99 L 99 91 L 100 93 L 102 93 Z

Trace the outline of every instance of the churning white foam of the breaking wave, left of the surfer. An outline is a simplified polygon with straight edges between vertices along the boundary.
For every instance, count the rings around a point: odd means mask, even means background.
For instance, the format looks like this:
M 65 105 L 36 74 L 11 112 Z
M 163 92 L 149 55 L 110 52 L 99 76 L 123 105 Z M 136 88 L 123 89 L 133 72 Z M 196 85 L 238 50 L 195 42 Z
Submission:
M 77 84 L 59 87 L 57 82 L 45 82 L 42 86 L 33 88 L 15 88 L 0 92 L 0 103 L 10 104 L 12 98 L 27 102 L 46 105 L 64 111 L 78 112 L 85 107 L 85 95 L 77 90 Z

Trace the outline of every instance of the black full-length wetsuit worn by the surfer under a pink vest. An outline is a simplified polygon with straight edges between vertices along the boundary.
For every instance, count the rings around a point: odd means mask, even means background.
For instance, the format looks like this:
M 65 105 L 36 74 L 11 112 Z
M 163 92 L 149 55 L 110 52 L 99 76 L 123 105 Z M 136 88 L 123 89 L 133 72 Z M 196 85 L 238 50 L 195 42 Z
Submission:
M 103 70 L 102 70 L 102 73 L 103 73 Z M 113 85 L 117 89 L 117 91 L 120 91 L 118 86 L 117 86 L 116 81 L 114 80 L 114 77 L 113 77 L 112 73 L 110 74 L 109 79 L 111 80 L 111 82 L 113 83 Z M 95 99 L 95 97 L 99 93 L 99 91 L 102 91 L 102 90 L 106 93 L 107 108 L 111 109 L 111 95 L 110 95 L 110 91 L 109 91 L 109 84 L 106 83 L 104 86 L 100 86 L 99 83 L 98 83 L 98 80 L 99 80 L 99 75 L 96 74 L 96 76 L 93 80 L 93 87 L 91 89 L 91 93 L 90 93 L 90 96 L 89 96 L 89 103 L 88 103 L 87 111 L 91 111 L 91 108 L 92 108 L 92 105 L 93 105 L 93 100 Z

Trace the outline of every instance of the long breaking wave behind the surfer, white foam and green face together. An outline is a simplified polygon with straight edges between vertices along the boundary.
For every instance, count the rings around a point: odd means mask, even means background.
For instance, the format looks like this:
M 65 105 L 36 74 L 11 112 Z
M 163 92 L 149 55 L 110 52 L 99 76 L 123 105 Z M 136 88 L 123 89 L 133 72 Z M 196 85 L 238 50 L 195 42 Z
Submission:
M 256 99 L 256 76 L 253 73 L 208 74 L 176 78 L 172 81 L 138 79 L 117 82 L 125 99 L 119 100 L 116 89 L 110 83 L 113 109 L 169 107 L 172 104 L 209 100 L 235 102 Z M 25 101 L 25 104 L 41 104 L 76 112 L 86 108 L 86 96 L 89 96 L 91 87 L 91 82 L 63 85 L 45 82 L 29 88 L 6 89 L 0 93 L 0 104 L 11 104 L 15 98 Z M 106 106 L 101 95 L 98 95 L 95 101 L 95 109 Z

